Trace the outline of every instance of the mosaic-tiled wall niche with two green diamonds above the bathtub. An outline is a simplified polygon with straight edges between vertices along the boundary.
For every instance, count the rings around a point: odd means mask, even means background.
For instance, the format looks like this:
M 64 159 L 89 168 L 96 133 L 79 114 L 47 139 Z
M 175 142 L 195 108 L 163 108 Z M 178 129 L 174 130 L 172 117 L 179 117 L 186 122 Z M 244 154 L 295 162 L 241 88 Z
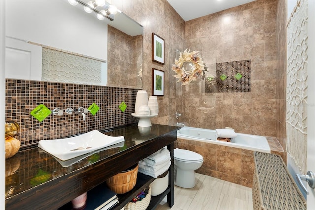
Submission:
M 207 70 L 202 93 L 251 92 L 251 60 L 211 64 Z

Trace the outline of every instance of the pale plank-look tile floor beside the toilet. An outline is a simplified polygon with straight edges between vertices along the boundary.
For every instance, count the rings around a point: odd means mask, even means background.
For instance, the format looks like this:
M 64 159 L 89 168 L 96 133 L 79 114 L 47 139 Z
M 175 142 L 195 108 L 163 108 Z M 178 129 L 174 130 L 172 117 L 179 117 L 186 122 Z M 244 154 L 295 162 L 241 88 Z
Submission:
M 156 210 L 169 210 L 168 204 Z M 196 173 L 196 186 L 175 186 L 171 210 L 253 210 L 252 188 Z

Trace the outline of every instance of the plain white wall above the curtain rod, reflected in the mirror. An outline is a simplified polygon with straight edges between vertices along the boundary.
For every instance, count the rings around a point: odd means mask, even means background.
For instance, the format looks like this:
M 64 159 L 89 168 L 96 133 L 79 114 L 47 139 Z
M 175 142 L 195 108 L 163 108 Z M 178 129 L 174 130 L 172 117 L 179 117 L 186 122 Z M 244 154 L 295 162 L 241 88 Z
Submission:
M 107 24 L 66 0 L 6 1 L 6 36 L 107 60 Z

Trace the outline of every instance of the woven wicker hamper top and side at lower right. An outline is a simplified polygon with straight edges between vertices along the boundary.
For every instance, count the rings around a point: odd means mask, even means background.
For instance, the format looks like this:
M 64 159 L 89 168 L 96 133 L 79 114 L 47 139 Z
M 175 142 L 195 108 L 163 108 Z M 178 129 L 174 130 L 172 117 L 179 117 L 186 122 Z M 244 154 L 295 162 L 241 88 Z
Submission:
M 254 210 L 306 210 L 306 201 L 279 155 L 254 152 Z

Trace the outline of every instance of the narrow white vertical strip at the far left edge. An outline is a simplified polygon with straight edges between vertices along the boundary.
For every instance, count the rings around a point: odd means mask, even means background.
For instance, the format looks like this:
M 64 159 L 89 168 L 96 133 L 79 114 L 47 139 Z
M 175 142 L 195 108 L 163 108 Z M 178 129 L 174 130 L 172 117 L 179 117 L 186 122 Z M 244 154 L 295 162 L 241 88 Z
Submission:
M 5 1 L 0 0 L 0 210 L 5 209 Z

